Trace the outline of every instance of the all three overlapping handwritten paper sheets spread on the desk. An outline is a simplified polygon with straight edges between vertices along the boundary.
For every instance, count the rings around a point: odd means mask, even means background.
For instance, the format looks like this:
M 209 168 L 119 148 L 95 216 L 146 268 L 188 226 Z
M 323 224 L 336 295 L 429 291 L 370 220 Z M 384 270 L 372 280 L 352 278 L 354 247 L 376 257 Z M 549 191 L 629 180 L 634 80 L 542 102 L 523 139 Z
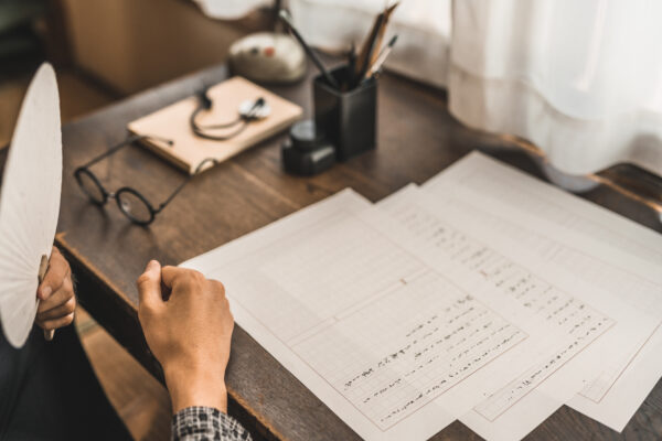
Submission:
M 366 440 L 521 439 L 564 404 L 621 431 L 662 376 L 662 237 L 480 153 L 182 266 Z

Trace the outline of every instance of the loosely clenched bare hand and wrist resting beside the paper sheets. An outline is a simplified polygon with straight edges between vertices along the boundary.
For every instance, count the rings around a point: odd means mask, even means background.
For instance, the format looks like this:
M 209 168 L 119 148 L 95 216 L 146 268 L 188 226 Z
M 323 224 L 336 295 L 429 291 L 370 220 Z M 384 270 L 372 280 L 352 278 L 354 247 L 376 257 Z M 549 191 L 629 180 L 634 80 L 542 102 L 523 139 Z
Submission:
M 223 284 L 190 269 L 161 269 L 156 260 L 137 284 L 138 318 L 163 367 L 172 411 L 209 406 L 226 412 L 224 378 L 234 319 Z

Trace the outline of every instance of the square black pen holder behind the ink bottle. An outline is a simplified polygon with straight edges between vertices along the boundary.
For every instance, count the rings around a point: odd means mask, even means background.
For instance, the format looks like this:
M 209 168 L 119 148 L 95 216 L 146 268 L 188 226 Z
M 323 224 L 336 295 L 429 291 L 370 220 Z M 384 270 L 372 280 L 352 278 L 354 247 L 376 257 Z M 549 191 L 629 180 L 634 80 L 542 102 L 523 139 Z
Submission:
M 341 90 L 322 75 L 313 80 L 314 122 L 335 147 L 340 161 L 372 150 L 376 146 L 377 80 L 370 78 L 354 88 L 348 66 L 331 71 Z

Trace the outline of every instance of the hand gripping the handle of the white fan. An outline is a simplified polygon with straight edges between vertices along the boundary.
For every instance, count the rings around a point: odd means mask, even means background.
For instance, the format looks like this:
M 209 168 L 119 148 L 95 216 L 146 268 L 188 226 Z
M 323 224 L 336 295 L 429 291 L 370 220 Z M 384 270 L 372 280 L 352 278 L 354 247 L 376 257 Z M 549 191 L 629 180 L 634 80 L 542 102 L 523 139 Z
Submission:
M 44 331 L 56 330 L 74 321 L 76 295 L 72 270 L 56 247 L 51 251 L 49 269 L 36 290 L 36 297 L 41 301 L 34 321 Z

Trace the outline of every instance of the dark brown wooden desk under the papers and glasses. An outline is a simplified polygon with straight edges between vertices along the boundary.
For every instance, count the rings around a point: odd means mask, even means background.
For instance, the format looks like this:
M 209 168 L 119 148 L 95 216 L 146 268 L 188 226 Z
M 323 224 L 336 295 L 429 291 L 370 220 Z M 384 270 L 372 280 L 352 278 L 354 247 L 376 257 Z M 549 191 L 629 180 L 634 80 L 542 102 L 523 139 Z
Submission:
M 312 73 L 312 71 L 311 71 Z M 503 146 L 501 138 L 459 125 L 448 114 L 445 94 L 385 75 L 378 96 L 378 148 L 310 179 L 292 178 L 280 165 L 284 136 L 205 172 L 157 217 L 150 228 L 131 225 L 114 203 L 98 208 L 79 192 L 75 166 L 122 140 L 128 121 L 192 95 L 201 85 L 227 77 L 218 66 L 145 92 L 64 127 L 64 184 L 58 245 L 79 280 L 81 302 L 156 376 L 137 318 L 135 280 L 151 258 L 177 265 L 265 226 L 345 186 L 371 201 L 409 182 L 423 183 L 470 149 Z M 309 83 L 273 87 L 310 115 Z M 0 163 L 4 162 L 0 153 Z M 532 171 L 520 152 L 499 158 Z M 95 169 L 109 189 L 131 185 L 154 202 L 166 197 L 184 175 L 139 147 L 127 148 Z M 651 228 L 661 230 L 648 207 L 599 187 L 587 197 Z M 227 370 L 231 413 L 257 435 L 288 440 L 352 440 L 357 435 L 278 364 L 241 327 L 233 336 Z M 659 439 L 662 433 L 662 385 L 649 396 L 623 434 L 567 407 L 538 427 L 531 439 Z M 435 440 L 478 439 L 459 422 Z

